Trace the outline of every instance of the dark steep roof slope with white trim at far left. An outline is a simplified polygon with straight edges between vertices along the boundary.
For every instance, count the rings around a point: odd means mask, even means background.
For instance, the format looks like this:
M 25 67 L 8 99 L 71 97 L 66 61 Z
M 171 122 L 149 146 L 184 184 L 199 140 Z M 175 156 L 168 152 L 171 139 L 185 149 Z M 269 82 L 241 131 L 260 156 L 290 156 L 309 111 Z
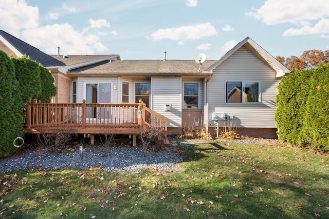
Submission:
M 44 67 L 65 65 L 56 58 L 51 57 L 50 55 L 25 43 L 24 41 L 21 41 L 21 39 L 16 38 L 3 30 L 0 30 L 0 41 L 2 41 L 17 57 L 26 55 Z

